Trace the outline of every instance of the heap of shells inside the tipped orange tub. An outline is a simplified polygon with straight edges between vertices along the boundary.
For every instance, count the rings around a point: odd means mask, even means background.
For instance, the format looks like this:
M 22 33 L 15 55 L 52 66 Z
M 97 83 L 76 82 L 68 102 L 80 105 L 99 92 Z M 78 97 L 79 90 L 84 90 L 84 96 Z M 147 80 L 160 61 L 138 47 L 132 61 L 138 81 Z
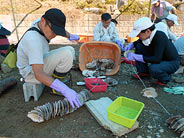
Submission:
M 111 72 L 114 68 L 114 61 L 112 59 L 96 59 L 86 64 L 87 69 L 96 69 L 104 72 Z

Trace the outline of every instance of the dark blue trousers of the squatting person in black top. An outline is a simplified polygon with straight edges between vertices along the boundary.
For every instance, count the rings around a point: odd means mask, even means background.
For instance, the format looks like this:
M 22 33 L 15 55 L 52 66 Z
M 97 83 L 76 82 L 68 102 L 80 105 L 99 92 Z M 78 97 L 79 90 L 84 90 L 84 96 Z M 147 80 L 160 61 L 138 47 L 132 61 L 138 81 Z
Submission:
M 135 53 L 150 56 L 152 52 L 149 51 L 148 47 L 139 43 L 136 45 Z M 153 78 L 160 82 L 169 82 L 171 80 L 171 74 L 176 72 L 179 65 L 179 58 L 172 61 L 161 61 L 159 64 L 136 61 L 137 72 L 150 73 Z

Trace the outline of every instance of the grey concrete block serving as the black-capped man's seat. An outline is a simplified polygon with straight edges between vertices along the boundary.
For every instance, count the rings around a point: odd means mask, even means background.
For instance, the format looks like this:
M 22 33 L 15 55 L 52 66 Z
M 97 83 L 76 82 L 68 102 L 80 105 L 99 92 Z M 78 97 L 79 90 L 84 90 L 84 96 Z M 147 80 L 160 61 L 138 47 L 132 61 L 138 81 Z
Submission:
M 45 85 L 41 84 L 33 84 L 33 83 L 24 83 L 23 91 L 24 91 L 24 99 L 25 102 L 29 102 L 31 96 L 33 96 L 34 101 L 38 101 L 40 95 L 42 94 L 43 88 Z

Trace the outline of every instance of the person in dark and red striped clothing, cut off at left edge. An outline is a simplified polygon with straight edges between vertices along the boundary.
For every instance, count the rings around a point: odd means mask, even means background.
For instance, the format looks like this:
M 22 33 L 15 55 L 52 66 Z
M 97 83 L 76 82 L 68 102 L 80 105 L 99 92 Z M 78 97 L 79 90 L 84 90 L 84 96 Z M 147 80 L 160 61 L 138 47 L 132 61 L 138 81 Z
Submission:
M 0 23 L 0 55 L 5 57 L 6 52 L 10 46 L 10 43 L 7 39 L 7 35 L 10 35 L 11 32 L 4 28 Z

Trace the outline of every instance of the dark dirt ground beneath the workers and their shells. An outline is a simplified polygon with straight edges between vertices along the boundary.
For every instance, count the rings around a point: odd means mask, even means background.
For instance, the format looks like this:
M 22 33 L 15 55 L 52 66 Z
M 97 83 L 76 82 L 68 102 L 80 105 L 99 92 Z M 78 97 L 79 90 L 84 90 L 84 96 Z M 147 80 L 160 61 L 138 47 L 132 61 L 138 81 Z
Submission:
M 52 48 L 56 48 L 54 46 Z M 79 45 L 73 46 L 78 56 Z M 38 105 L 57 101 L 63 97 L 51 95 L 50 89 L 46 87 L 38 102 L 31 99 L 24 101 L 22 82 L 17 69 L 11 73 L 3 74 L 0 72 L 0 79 L 8 76 L 17 78 L 18 84 L 0 97 L 0 137 L 12 138 L 115 138 L 110 131 L 101 127 L 95 118 L 89 113 L 85 106 L 75 112 L 65 115 L 62 118 L 56 117 L 44 123 L 34 123 L 27 113 Z M 138 118 L 139 128 L 121 138 L 177 138 L 179 135 L 169 130 L 165 120 L 169 115 L 153 99 L 148 99 L 140 93 L 144 88 L 139 80 L 132 79 L 134 73 L 133 66 L 122 63 L 119 72 L 111 76 L 118 80 L 119 84 L 115 87 L 108 87 L 104 93 L 93 93 L 91 99 L 109 97 L 115 100 L 119 96 L 128 97 L 141 101 L 145 107 Z M 77 86 L 77 81 L 83 81 L 84 77 L 80 71 L 72 70 L 73 89 L 80 92 L 85 86 Z M 183 78 L 183 74 L 175 75 Z M 143 80 L 147 87 L 154 87 L 158 93 L 156 98 L 173 115 L 184 116 L 183 95 L 168 94 L 163 88 L 155 86 L 153 79 Z M 184 84 L 171 83 L 170 86 L 183 86 Z

